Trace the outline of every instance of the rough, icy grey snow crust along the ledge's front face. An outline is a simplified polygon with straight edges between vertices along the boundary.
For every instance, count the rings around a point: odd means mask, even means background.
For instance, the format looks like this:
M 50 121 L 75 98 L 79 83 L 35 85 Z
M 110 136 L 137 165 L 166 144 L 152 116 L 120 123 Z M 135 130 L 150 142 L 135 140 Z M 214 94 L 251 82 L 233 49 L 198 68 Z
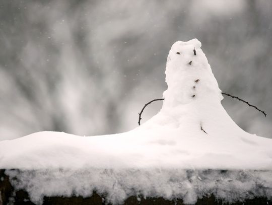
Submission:
M 90 196 L 93 191 L 105 202 L 122 204 L 129 196 L 182 198 L 195 203 L 197 198 L 214 194 L 225 202 L 256 196 L 272 198 L 271 171 L 220 171 L 182 169 L 86 169 L 86 170 L 9 170 L 17 189 L 30 193 L 42 203 L 45 196 Z M 19 177 L 18 177 L 19 176 Z

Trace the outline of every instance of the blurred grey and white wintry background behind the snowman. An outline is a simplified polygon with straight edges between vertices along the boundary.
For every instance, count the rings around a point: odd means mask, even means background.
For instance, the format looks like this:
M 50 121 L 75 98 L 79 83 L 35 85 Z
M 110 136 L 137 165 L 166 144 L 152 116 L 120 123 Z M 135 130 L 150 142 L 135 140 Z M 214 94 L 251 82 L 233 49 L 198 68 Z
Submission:
M 137 127 L 166 90 L 171 45 L 197 38 L 223 106 L 272 138 L 272 1 L 0 0 L 0 140 L 41 130 L 79 135 Z M 142 123 L 155 115 L 154 102 Z

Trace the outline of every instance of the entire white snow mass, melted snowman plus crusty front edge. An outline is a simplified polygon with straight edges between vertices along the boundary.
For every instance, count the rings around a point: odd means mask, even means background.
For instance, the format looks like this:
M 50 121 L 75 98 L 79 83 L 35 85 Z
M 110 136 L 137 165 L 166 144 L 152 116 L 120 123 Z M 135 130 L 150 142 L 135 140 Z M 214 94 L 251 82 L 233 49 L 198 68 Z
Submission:
M 140 127 L 88 137 L 43 131 L 2 141 L 0 168 L 25 170 L 7 174 L 36 203 L 44 195 L 89 196 L 93 190 L 115 204 L 130 195 L 186 203 L 211 193 L 228 202 L 271 198 L 272 140 L 230 118 L 200 46 L 197 39 L 173 44 L 162 109 Z

